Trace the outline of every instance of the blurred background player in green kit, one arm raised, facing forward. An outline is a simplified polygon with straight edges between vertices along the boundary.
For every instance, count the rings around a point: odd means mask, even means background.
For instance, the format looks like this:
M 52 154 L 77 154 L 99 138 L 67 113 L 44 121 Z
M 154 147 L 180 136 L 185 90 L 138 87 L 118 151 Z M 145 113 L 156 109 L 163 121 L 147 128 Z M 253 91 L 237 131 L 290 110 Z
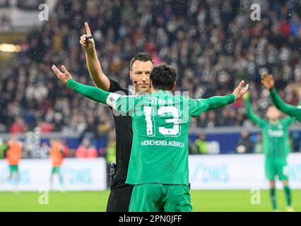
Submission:
M 275 177 L 278 175 L 278 179 L 283 182 L 287 204 L 286 210 L 293 211 L 291 192 L 288 186 L 288 162 L 286 158 L 288 153 L 290 153 L 288 126 L 295 119 L 291 117 L 280 119 L 281 112 L 274 106 L 268 107 L 268 111 L 266 112 L 268 119 L 262 119 L 252 111 L 249 93 L 244 95 L 243 99 L 249 119 L 261 128 L 263 150 L 266 157 L 266 178 L 270 182 L 270 196 L 273 210 L 277 211 Z

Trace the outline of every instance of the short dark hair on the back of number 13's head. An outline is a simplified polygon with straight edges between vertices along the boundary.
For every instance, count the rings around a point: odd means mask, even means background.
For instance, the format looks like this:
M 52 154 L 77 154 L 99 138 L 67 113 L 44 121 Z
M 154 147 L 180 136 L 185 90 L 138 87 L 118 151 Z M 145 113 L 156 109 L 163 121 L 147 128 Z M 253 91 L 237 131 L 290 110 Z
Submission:
M 172 90 L 177 79 L 177 70 L 168 64 L 159 64 L 151 71 L 150 79 L 153 88 L 158 90 Z

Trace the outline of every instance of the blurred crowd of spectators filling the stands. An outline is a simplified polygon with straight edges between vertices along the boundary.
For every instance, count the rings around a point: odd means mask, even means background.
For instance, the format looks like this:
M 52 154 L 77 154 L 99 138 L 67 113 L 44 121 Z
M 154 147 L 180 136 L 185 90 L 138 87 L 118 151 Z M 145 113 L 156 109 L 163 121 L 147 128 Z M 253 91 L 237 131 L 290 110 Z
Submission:
M 67 90 L 51 70 L 64 64 L 76 81 L 93 85 L 79 44 L 87 21 L 102 70 L 124 86 L 129 61 L 149 52 L 158 64 L 178 69 L 177 90 L 193 98 L 232 93 L 244 79 L 254 111 L 264 117 L 271 104 L 261 87 L 270 71 L 285 102 L 297 105 L 301 83 L 301 4 L 261 1 L 261 20 L 250 19 L 251 1 L 58 1 L 40 28 L 28 32 L 1 76 L 0 132 L 21 133 L 37 126 L 52 131 L 108 136 L 114 127 L 108 107 Z M 192 119 L 194 128 L 248 126 L 242 101 Z

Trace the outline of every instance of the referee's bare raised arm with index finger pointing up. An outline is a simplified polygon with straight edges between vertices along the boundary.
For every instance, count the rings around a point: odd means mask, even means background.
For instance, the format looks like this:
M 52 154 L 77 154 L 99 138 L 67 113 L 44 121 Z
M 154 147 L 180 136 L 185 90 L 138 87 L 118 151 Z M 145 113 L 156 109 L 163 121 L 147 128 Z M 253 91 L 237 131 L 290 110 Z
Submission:
M 85 23 L 85 35 L 81 35 L 81 46 L 85 50 L 85 59 L 87 62 L 90 77 L 98 88 L 102 90 L 110 89 L 110 80 L 102 71 L 100 61 L 95 49 L 95 41 L 90 31 L 88 23 Z

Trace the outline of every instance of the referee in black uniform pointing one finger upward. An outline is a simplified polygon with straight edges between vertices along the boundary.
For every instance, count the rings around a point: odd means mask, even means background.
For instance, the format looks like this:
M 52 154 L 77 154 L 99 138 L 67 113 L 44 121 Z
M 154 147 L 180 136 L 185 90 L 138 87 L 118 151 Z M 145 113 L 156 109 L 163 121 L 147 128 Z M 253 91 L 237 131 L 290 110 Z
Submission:
M 132 95 L 126 88 L 122 88 L 117 81 L 105 76 L 100 66 L 100 61 L 95 49 L 95 42 L 90 32 L 88 23 L 85 23 L 86 34 L 81 36 L 81 45 L 85 50 L 90 76 L 95 86 L 102 90 L 122 95 Z M 134 92 L 148 92 L 150 89 L 151 70 L 153 58 L 147 53 L 138 53 L 131 60 L 129 76 L 134 85 Z M 131 155 L 131 143 L 133 131 L 131 129 L 131 117 L 114 115 L 116 132 L 116 160 L 117 168 L 111 184 L 111 192 L 107 202 L 107 212 L 128 212 L 133 186 L 125 184 Z

